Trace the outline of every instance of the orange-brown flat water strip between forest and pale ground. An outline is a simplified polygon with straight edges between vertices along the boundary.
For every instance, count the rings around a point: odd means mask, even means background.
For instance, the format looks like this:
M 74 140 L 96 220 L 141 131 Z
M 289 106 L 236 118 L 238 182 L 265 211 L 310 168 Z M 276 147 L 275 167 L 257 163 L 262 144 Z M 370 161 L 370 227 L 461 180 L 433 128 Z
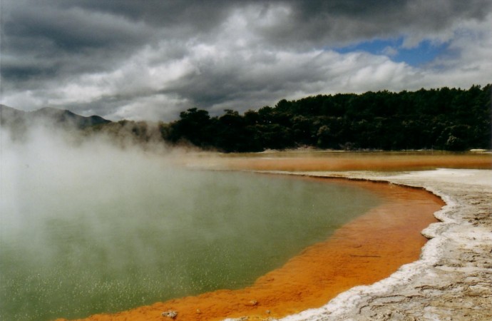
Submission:
M 491 169 L 491 153 L 412 152 L 278 152 L 198 156 L 198 165 L 250 170 L 432 170 L 436 168 Z M 193 164 L 193 159 L 187 160 Z

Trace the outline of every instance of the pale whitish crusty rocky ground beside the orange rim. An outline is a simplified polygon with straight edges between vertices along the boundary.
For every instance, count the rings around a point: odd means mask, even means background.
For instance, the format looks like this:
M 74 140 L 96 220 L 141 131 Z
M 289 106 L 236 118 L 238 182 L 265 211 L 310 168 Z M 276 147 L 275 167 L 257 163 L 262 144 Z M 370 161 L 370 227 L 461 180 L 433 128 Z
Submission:
M 492 170 L 299 174 L 425 188 L 446 206 L 436 213 L 441 223 L 423 231 L 430 240 L 420 260 L 284 320 L 492 320 Z

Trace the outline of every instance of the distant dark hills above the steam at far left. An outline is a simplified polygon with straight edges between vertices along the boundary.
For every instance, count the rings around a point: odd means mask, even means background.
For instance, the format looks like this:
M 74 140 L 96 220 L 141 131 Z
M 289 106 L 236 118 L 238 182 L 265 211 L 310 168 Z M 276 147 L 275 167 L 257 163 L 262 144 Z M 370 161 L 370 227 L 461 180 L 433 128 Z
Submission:
M 71 111 L 56 108 L 41 108 L 37 111 L 19 111 L 0 105 L 2 126 L 30 126 L 34 123 L 52 122 L 55 126 L 85 129 L 91 126 L 111 123 L 101 116 L 80 116 Z

